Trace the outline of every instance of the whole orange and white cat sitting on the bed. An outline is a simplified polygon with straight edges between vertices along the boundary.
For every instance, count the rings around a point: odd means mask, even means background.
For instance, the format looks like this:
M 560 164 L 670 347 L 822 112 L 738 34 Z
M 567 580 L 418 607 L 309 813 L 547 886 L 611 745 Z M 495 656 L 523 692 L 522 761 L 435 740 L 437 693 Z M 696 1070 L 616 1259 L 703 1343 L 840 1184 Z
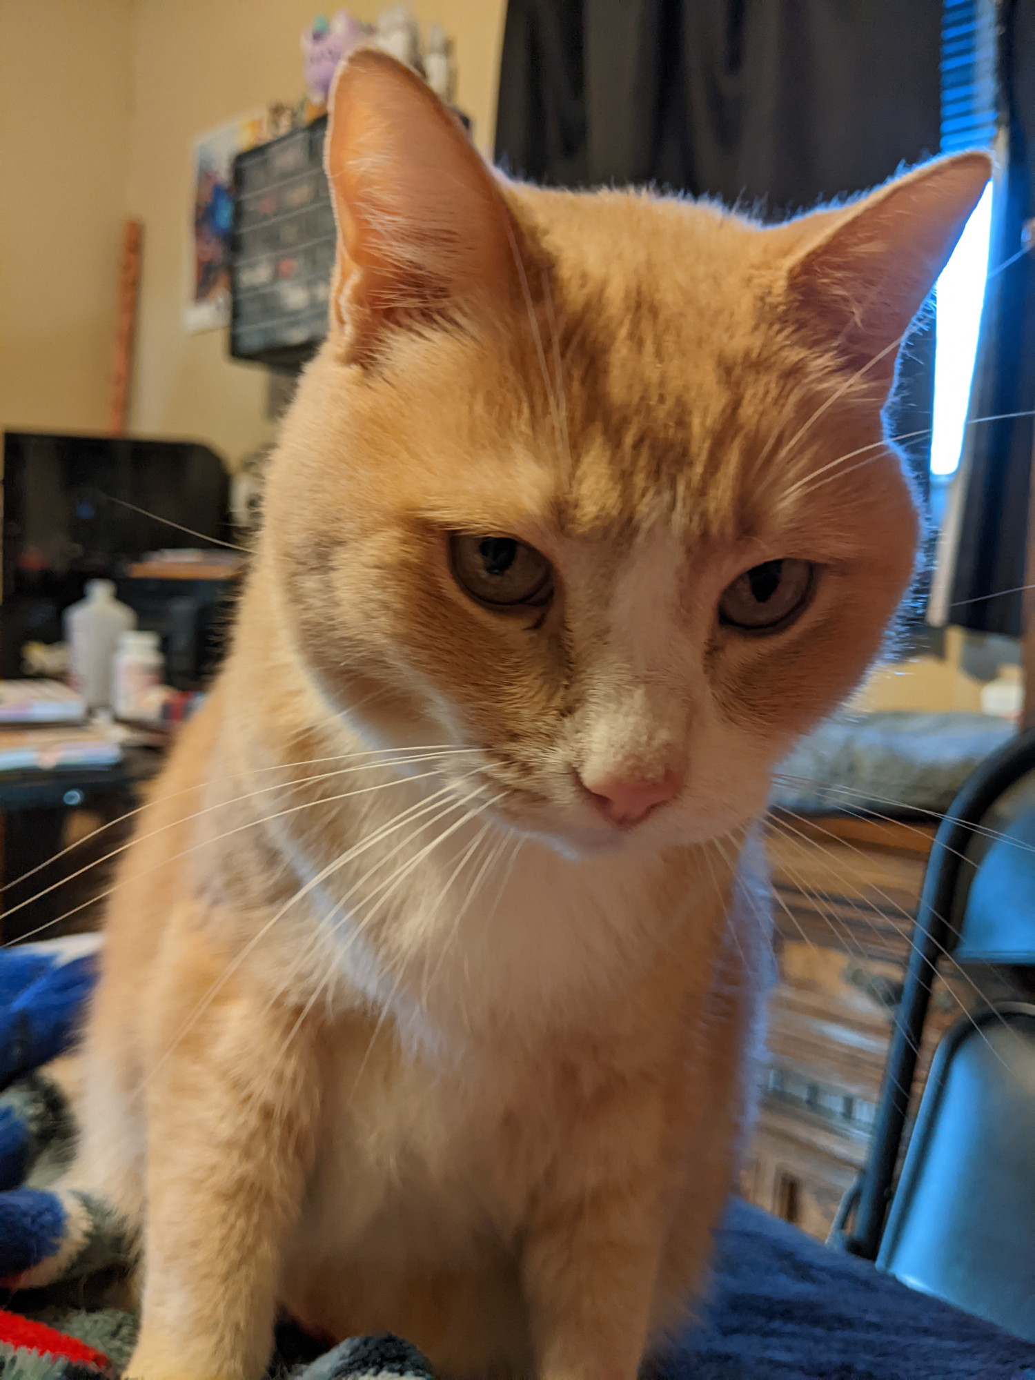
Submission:
M 141 1231 L 144 1380 L 258 1377 L 279 1307 L 632 1380 L 749 1111 L 769 773 L 911 577 L 880 408 L 988 159 L 774 229 L 535 190 L 374 52 L 327 150 L 331 333 L 119 879 L 69 1181 Z

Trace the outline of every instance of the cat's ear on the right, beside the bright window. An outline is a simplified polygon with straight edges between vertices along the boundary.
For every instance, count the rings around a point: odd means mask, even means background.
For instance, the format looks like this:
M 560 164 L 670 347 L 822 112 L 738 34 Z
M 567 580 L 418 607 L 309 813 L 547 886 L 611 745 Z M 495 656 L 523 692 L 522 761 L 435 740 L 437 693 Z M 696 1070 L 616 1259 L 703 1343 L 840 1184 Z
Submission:
M 787 280 L 792 316 L 861 382 L 890 386 L 898 345 L 991 174 L 987 153 L 938 159 L 776 232 L 800 236 Z

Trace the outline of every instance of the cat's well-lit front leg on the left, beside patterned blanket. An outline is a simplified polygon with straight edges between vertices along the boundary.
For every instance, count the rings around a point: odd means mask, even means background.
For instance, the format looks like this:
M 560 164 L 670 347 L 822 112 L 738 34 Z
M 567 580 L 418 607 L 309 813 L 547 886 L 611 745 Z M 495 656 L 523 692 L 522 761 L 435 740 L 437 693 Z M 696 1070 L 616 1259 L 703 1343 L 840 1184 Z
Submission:
M 315 1036 L 295 1023 L 294 1010 L 228 994 L 156 1070 L 132 1380 L 258 1380 L 265 1370 L 319 1103 Z

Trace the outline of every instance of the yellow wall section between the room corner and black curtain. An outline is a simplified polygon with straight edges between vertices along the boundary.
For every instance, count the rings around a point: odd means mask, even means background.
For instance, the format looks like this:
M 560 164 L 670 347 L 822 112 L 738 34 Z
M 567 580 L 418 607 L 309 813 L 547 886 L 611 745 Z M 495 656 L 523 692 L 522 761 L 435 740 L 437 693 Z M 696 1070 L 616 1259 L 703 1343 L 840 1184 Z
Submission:
M 328 11 L 334 6 L 326 7 Z M 373 19 L 378 0 L 348 8 Z M 458 102 L 489 146 L 502 44 L 504 0 L 411 0 L 457 46 Z M 127 204 L 145 224 L 132 426 L 196 436 L 233 464 L 272 433 L 264 371 L 232 363 L 225 331 L 189 335 L 192 139 L 269 101 L 304 91 L 299 33 L 317 0 L 137 0 L 134 120 Z

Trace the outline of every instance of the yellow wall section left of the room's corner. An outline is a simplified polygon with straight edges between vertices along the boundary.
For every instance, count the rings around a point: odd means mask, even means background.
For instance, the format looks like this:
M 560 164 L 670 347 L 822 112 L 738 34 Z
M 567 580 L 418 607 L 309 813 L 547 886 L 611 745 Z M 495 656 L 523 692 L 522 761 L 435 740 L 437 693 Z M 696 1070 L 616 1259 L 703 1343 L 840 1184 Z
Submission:
M 132 0 L 0 0 L 0 431 L 108 424 Z

